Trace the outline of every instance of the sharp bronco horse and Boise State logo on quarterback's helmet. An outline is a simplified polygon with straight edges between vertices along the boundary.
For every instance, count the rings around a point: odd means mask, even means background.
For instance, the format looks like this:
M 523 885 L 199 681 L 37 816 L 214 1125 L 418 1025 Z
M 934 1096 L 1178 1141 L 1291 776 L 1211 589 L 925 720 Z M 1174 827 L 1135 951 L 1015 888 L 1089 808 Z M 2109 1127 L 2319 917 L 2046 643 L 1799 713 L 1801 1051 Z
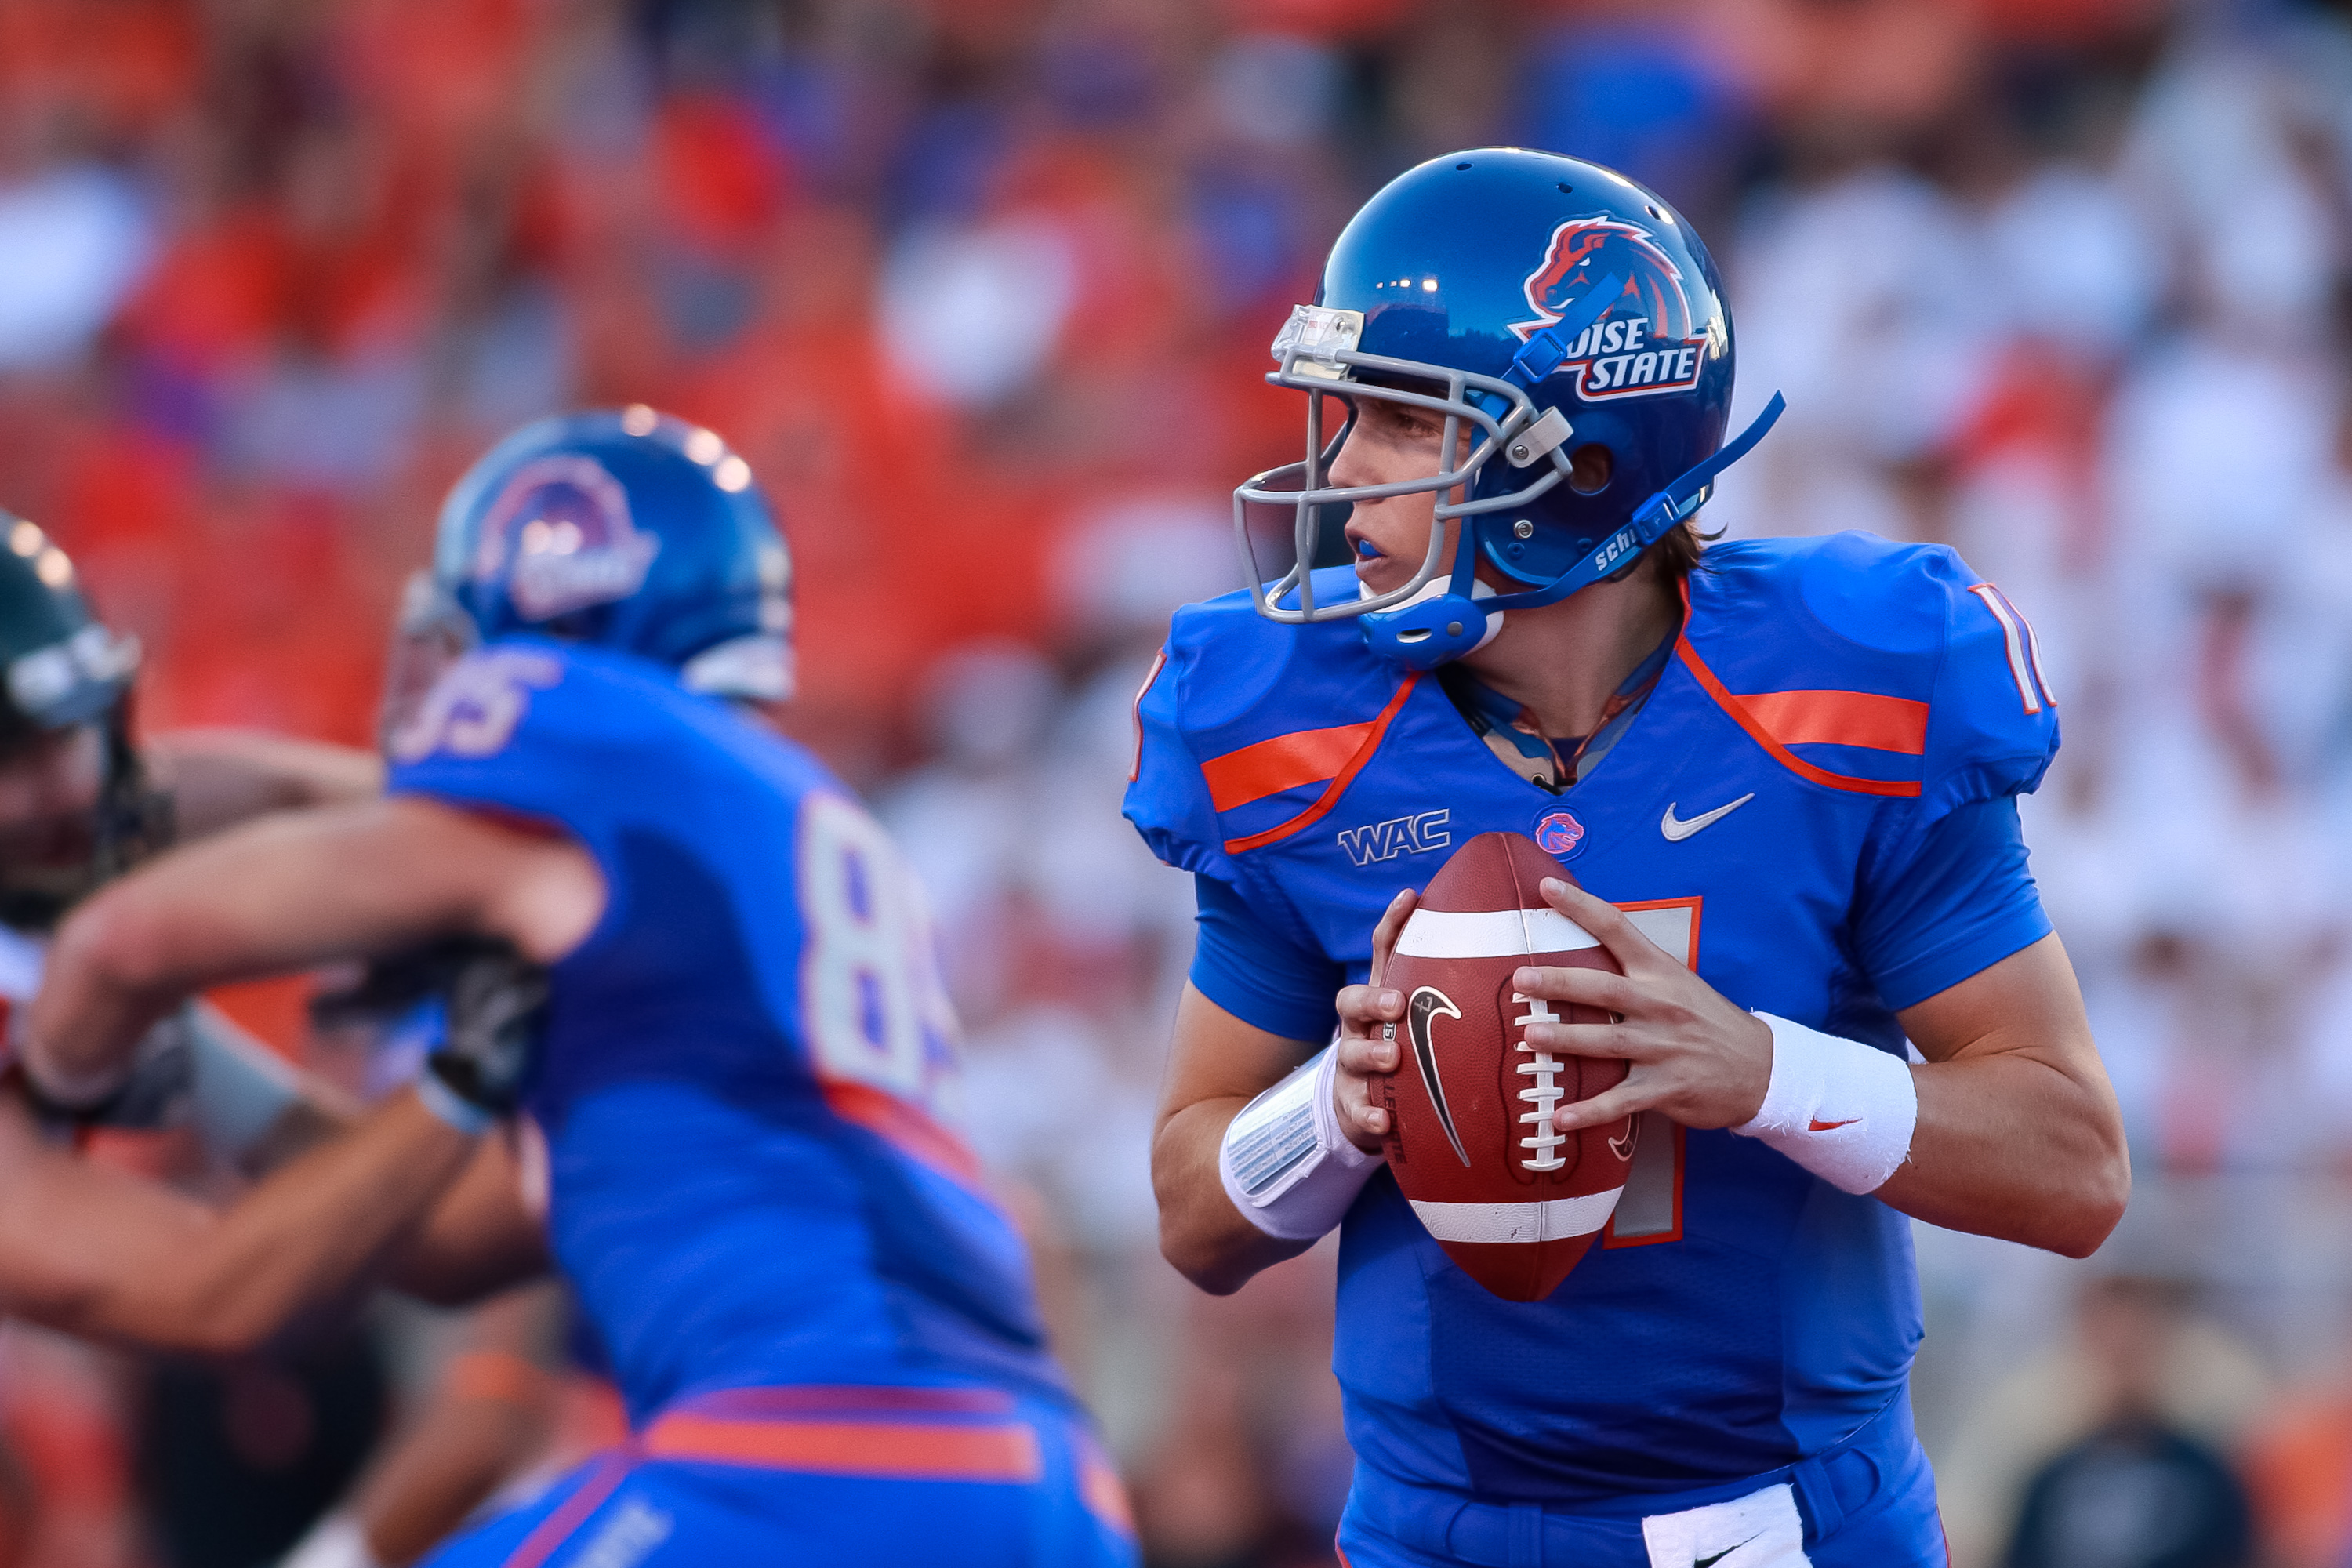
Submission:
M 1510 329 L 1522 339 L 1543 331 L 1611 277 L 1621 280 L 1623 294 L 1559 362 L 1559 371 L 1576 371 L 1576 395 L 1606 402 L 1698 386 L 1710 334 L 1691 320 L 1682 268 L 1632 223 L 1569 219 L 1555 228 L 1543 263 L 1522 284 L 1536 320 L 1512 322 Z

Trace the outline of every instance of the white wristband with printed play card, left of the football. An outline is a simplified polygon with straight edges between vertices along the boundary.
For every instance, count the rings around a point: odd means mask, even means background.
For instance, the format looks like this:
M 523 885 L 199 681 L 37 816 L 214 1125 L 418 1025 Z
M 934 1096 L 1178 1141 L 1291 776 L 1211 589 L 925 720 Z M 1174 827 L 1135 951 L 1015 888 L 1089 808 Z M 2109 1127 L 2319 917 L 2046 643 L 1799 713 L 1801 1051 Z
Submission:
M 1216 1173 L 1242 1218 L 1282 1241 L 1312 1241 L 1348 1213 L 1385 1154 L 1367 1154 L 1338 1131 L 1331 1079 L 1336 1046 L 1324 1046 L 1225 1128 Z

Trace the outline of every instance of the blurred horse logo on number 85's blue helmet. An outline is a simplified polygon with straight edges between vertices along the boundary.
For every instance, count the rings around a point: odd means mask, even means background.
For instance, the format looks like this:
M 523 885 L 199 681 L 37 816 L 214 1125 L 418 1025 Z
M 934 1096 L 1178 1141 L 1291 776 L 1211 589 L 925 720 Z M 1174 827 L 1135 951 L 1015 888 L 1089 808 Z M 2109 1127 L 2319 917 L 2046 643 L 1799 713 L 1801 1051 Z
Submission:
M 473 578 L 496 583 L 524 621 L 612 604 L 644 588 L 661 538 L 628 517 L 628 491 L 588 456 L 546 456 L 506 482 L 482 522 Z

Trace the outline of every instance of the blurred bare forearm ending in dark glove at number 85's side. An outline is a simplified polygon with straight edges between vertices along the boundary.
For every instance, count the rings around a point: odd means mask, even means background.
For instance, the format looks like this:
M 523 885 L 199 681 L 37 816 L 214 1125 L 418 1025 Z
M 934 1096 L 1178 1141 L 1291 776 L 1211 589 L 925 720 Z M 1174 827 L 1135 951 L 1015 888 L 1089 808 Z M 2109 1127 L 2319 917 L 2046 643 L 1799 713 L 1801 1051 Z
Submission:
M 111 1251 L 94 1288 L 52 1324 L 153 1347 L 247 1352 L 369 1281 L 473 1143 L 402 1093 L 181 1237 L 172 1255 Z

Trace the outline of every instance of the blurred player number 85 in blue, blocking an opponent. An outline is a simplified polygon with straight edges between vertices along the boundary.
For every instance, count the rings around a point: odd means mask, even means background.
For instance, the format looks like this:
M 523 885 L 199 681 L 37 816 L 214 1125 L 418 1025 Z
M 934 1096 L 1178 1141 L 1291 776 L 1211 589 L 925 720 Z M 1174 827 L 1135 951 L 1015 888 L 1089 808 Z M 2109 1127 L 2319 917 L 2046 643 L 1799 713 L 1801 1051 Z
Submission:
M 506 936 L 553 964 L 522 1175 L 637 1422 L 442 1563 L 1117 1563 L 1117 1481 L 1021 1244 L 946 1131 L 955 1020 L 915 882 L 779 701 L 786 555 L 741 458 L 652 409 L 532 425 L 442 515 L 480 646 L 390 797 L 223 835 L 66 924 L 40 1072 L 99 1086 L 226 976 Z M 416 607 L 419 611 L 426 604 Z M 496 1182 L 437 1288 L 543 1267 Z

